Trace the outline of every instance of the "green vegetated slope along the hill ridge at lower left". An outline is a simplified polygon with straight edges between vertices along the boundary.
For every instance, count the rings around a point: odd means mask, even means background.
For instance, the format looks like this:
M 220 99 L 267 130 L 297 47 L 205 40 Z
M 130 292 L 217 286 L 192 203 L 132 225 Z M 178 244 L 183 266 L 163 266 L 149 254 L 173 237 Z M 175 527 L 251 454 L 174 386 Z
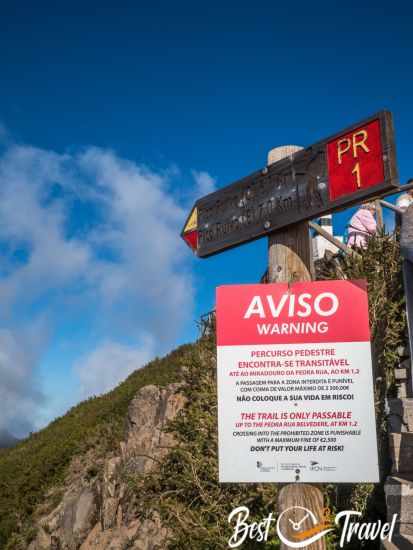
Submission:
M 36 507 L 52 487 L 62 484 L 74 456 L 92 448 L 98 456 L 117 449 L 127 408 L 136 392 L 148 384 L 166 385 L 179 379 L 179 358 L 188 348 L 182 346 L 163 359 L 155 359 L 110 393 L 80 403 L 15 448 L 2 450 L 0 548 L 13 533 L 27 533 L 28 539 L 32 536 Z

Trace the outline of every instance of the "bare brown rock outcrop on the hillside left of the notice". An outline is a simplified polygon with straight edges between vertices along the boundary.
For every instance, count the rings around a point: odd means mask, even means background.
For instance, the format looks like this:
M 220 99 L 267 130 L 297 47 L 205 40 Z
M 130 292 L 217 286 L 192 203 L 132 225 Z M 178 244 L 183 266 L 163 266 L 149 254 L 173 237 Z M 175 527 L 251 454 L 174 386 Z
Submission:
M 103 463 L 101 481 L 87 475 L 90 466 L 98 465 L 92 456 L 73 460 L 63 498 L 39 520 L 29 550 L 164 550 L 167 529 L 157 515 L 145 521 L 133 516 L 123 474 L 149 472 L 174 444 L 172 434 L 162 430 L 185 404 L 178 389 L 179 384 L 145 386 L 137 393 L 128 409 L 120 455 Z

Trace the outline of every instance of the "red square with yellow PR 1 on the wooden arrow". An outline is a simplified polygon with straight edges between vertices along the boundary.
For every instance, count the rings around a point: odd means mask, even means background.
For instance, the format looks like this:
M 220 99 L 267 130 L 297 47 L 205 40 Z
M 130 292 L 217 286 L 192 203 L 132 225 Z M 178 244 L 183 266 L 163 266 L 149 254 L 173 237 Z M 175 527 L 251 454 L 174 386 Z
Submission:
M 330 200 L 384 180 L 383 145 L 378 119 L 327 144 Z

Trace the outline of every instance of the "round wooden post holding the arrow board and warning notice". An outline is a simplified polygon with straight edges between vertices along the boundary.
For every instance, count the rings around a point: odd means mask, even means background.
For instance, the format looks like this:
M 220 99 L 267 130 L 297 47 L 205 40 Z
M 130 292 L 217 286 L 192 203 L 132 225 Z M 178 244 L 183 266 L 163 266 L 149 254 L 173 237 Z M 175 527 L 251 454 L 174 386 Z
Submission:
M 268 164 L 281 160 L 299 149 L 300 147 L 291 145 L 277 147 L 269 152 Z M 269 283 L 310 281 L 312 273 L 312 248 L 307 222 L 298 223 L 285 231 L 277 231 L 269 235 Z M 320 522 L 323 520 L 323 494 L 317 487 L 302 483 L 283 487 L 278 496 L 278 513 L 291 506 L 304 506 L 311 510 Z M 311 521 L 306 520 L 303 524 L 303 529 L 311 527 L 313 527 Z M 286 523 L 285 529 L 284 532 L 287 536 L 297 534 L 296 531 L 292 530 L 290 522 Z M 287 550 L 288 548 L 288 546 L 281 544 L 282 550 Z M 306 548 L 308 550 L 325 550 L 325 540 L 320 539 Z

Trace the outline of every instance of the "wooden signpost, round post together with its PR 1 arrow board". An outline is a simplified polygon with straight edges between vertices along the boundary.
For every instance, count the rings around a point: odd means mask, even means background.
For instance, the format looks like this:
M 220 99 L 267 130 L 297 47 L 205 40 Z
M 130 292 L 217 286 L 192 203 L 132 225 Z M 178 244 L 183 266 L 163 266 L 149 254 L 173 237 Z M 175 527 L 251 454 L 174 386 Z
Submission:
M 199 199 L 181 236 L 200 258 L 268 236 L 268 282 L 309 281 L 308 221 L 397 184 L 392 116 L 382 111 L 305 149 L 273 150 L 264 169 Z M 279 507 L 290 506 L 322 517 L 322 493 L 310 485 L 287 485 Z M 323 550 L 325 543 L 308 548 Z

